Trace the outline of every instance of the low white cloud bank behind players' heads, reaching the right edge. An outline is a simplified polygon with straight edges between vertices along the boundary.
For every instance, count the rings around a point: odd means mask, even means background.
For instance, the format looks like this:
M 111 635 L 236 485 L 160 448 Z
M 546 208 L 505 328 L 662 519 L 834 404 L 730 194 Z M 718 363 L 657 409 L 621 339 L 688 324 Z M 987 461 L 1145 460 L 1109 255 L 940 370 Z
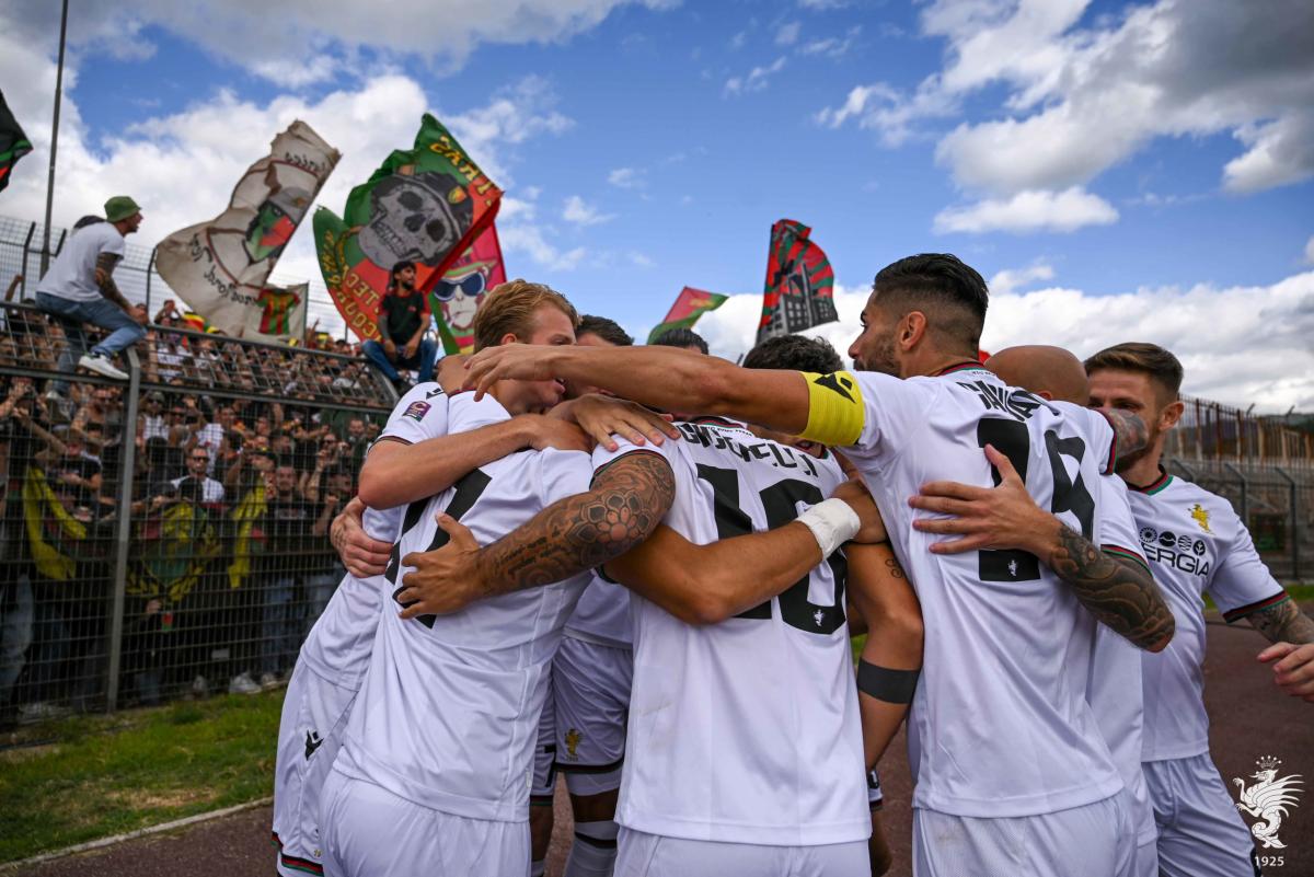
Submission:
M 808 330 L 841 354 L 857 336 L 866 288 L 837 288 L 838 323 Z M 762 295 L 732 295 L 703 316 L 696 331 L 712 352 L 735 360 L 753 345 Z M 1168 348 L 1185 366 L 1190 395 L 1263 412 L 1314 408 L 1314 272 L 1271 286 L 1206 284 L 1091 295 L 1051 288 L 993 293 L 982 344 L 1056 344 L 1085 357 L 1127 340 Z M 1263 339 L 1263 344 L 1256 344 Z M 1276 375 L 1276 377 L 1275 377 Z

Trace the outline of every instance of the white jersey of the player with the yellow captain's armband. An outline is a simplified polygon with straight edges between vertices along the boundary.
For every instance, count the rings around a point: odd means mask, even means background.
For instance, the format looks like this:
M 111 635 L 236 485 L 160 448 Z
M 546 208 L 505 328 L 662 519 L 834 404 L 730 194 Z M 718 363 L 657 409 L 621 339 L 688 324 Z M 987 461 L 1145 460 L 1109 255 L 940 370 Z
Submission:
M 982 448 L 991 444 L 1042 508 L 1093 538 L 1091 491 L 1106 460 L 1084 435 L 1092 420 L 976 362 L 907 381 L 871 372 L 815 381 L 846 400 L 849 417 L 861 403 L 861 435 L 845 454 L 921 600 L 925 650 L 908 733 L 913 806 L 1024 817 L 1116 794 L 1122 781 L 1085 687 L 1064 666 L 1070 647 L 1093 635 L 1092 616 L 1025 551 L 932 554 L 941 537 L 915 530 L 922 512 L 908 505 L 929 481 L 989 487 L 997 475 Z

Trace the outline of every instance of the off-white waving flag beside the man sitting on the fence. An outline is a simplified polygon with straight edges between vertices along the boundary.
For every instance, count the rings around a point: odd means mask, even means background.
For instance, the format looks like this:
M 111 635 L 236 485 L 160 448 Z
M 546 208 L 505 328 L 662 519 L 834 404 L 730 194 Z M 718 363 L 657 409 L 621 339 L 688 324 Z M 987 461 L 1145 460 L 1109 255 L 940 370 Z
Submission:
M 305 290 L 267 281 L 339 158 L 309 125 L 293 122 L 238 180 L 227 210 L 160 242 L 160 277 L 221 332 L 267 341 L 301 337 Z

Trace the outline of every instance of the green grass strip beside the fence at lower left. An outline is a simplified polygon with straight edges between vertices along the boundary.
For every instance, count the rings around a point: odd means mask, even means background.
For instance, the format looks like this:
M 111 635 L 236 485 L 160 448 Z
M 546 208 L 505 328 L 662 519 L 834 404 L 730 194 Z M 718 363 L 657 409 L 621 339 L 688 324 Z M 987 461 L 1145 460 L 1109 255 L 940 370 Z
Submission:
M 273 792 L 283 691 L 24 729 L 0 751 L 0 861 Z

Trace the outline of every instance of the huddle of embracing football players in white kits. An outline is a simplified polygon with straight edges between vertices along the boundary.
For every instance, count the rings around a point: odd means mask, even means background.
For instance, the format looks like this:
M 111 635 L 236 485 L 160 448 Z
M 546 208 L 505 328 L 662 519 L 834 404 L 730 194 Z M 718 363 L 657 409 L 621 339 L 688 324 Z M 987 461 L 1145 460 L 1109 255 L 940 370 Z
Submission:
M 279 873 L 541 874 L 557 771 L 570 877 L 883 873 L 905 718 L 918 877 L 1259 873 L 1209 758 L 1202 595 L 1307 700 L 1314 622 L 1160 465 L 1168 351 L 982 364 L 987 301 L 953 256 L 888 265 L 846 372 L 493 290 L 334 524 Z

